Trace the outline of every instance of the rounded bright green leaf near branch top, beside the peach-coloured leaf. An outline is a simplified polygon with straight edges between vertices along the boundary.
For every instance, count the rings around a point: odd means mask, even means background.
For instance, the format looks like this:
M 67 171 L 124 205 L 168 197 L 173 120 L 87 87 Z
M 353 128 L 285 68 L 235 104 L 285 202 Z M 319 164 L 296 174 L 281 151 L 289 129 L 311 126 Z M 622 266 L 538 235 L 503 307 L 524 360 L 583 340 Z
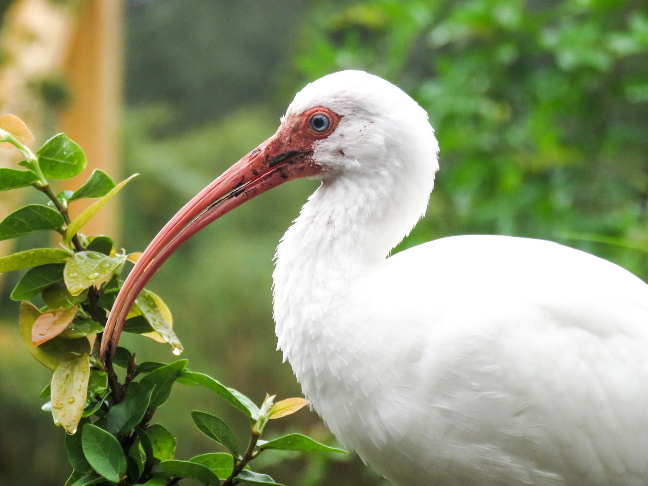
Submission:
M 69 179 L 86 168 L 86 154 L 81 147 L 58 133 L 36 152 L 38 165 L 48 179 Z

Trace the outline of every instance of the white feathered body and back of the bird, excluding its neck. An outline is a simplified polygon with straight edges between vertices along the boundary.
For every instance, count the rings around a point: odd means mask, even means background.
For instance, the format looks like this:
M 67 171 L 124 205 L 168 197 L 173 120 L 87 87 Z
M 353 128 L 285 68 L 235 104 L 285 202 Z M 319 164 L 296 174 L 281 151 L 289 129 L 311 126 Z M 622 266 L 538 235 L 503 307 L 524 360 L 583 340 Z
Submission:
M 379 359 L 311 395 L 343 443 L 411 478 L 398 485 L 648 484 L 648 286 L 631 273 L 542 240 L 453 237 L 346 295 L 329 318 L 365 336 L 348 359 Z

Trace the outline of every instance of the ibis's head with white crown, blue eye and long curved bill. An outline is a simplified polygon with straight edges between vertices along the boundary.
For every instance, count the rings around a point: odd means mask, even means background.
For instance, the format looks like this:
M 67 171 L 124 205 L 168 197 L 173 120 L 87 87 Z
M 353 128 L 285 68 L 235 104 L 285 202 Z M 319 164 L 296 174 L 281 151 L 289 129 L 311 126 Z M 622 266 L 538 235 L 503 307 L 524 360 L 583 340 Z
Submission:
M 277 132 L 205 187 L 146 248 L 113 305 L 102 354 L 114 353 L 128 310 L 163 262 L 231 209 L 290 179 L 366 179 L 376 174 L 382 179 L 405 179 L 406 174 L 424 186 L 426 204 L 437 151 L 425 111 L 382 78 L 341 71 L 308 84 L 295 96 Z

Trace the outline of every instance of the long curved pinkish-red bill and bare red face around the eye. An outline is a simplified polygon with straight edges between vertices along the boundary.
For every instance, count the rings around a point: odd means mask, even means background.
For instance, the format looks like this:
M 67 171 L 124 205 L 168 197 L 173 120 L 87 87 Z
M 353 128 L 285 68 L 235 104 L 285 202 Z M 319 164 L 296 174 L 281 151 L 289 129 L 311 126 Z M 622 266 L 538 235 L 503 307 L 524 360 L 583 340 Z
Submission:
M 312 117 L 318 114 L 329 119 L 329 126 L 322 132 L 310 124 Z M 227 169 L 180 209 L 137 260 L 117 295 L 101 342 L 102 356 L 115 353 L 124 320 L 137 295 L 183 242 L 223 214 L 272 187 L 291 179 L 321 174 L 321 167 L 312 160 L 313 144 L 334 132 L 340 119 L 340 115 L 321 106 L 287 117 L 275 135 Z

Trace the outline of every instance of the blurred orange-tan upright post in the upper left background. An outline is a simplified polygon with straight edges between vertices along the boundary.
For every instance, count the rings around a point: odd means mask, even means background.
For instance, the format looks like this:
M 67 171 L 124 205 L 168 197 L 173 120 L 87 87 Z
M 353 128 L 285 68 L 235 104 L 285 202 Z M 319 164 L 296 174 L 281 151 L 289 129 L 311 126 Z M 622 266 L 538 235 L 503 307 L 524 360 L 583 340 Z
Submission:
M 83 148 L 87 169 L 65 189 L 76 189 L 99 168 L 119 179 L 119 119 L 122 100 L 122 0 L 84 0 L 65 65 L 72 95 L 62 116 L 62 130 Z M 72 203 L 74 218 L 90 202 Z M 86 226 L 86 235 L 117 237 L 117 205 L 106 205 Z

